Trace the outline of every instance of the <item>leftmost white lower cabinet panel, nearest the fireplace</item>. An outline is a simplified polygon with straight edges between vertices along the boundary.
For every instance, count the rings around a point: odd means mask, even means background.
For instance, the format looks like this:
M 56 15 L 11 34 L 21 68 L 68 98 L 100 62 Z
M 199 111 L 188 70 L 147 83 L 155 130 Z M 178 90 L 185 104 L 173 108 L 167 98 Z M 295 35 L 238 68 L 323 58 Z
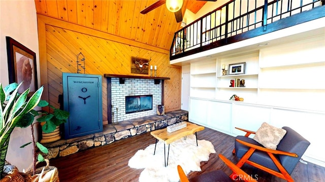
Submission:
M 197 124 L 207 123 L 207 100 L 189 98 L 188 120 Z

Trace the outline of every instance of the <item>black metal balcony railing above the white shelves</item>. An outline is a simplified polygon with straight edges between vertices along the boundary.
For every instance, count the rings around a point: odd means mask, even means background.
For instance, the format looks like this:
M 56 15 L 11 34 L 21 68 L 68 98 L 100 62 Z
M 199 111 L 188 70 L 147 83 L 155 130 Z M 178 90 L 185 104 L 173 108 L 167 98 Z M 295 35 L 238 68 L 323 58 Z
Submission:
M 296 22 L 289 22 L 284 26 L 277 25 L 277 28 L 268 27 L 268 25 L 278 20 L 306 12 L 324 4 L 325 0 L 231 0 L 175 32 L 170 49 L 170 59 L 173 60 L 256 37 L 285 26 L 295 25 Z M 318 18 L 325 16 L 325 13 L 322 12 L 318 13 L 320 14 Z M 310 21 L 310 18 L 314 17 L 308 15 L 307 20 L 303 18 L 299 21 L 300 23 Z M 259 31 L 250 31 L 254 29 Z M 246 35 L 239 38 L 238 35 L 242 34 L 241 36 L 243 36 L 244 33 Z

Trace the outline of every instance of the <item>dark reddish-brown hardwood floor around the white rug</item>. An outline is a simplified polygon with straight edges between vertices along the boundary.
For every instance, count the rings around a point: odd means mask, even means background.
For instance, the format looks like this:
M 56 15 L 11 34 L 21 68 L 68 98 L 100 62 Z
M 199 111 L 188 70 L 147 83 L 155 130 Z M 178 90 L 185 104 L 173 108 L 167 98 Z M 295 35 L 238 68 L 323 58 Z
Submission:
M 223 154 L 234 163 L 238 159 L 232 154 L 234 148 L 234 137 L 218 131 L 205 128 L 198 132 L 198 139 L 209 140 L 213 143 L 216 153 L 210 154 L 207 162 L 201 162 L 201 172 L 191 172 L 189 177 L 211 170 L 221 169 L 227 174 L 231 170 L 217 157 Z M 145 149 L 149 144 L 155 142 L 150 133 L 136 135 L 122 139 L 114 143 L 88 149 L 73 155 L 51 159 L 50 165 L 56 166 L 59 171 L 61 182 L 64 181 L 138 181 L 143 169 L 128 167 L 128 160 L 140 149 Z M 245 165 L 243 168 L 247 173 L 257 175 L 258 181 L 285 181 L 254 167 Z M 325 168 L 308 163 L 298 163 L 291 174 L 296 182 L 321 182 L 325 181 Z M 151 182 L 151 181 L 150 181 Z

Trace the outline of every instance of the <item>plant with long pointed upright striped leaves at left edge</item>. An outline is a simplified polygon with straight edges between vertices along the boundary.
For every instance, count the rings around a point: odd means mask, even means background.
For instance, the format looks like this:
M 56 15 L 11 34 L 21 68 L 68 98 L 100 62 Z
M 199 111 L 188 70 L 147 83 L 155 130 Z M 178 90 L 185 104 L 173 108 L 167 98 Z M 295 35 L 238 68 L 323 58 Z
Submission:
M 37 106 L 43 93 L 41 87 L 28 98 L 29 88 L 21 94 L 18 93 L 21 84 L 12 83 L 4 88 L 0 83 L 0 174 L 3 173 L 12 131 L 20 120 Z

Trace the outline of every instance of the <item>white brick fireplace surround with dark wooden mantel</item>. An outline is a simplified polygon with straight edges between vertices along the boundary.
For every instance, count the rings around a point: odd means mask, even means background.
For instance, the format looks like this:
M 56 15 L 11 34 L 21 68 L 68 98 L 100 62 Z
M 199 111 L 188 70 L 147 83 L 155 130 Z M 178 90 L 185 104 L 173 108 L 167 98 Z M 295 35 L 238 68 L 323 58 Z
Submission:
M 107 78 L 108 123 L 154 115 L 157 105 L 164 105 L 164 80 L 170 78 L 111 74 L 104 77 Z M 126 114 L 125 96 L 136 95 L 152 95 L 152 110 Z

